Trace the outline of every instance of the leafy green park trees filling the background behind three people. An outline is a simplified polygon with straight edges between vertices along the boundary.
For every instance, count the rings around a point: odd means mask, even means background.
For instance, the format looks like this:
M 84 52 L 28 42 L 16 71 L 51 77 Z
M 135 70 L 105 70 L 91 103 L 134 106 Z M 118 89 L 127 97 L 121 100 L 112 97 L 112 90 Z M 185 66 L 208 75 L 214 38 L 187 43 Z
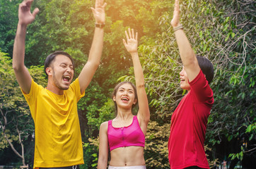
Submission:
M 85 164 L 96 168 L 99 126 L 115 115 L 110 98 L 120 81 L 134 82 L 132 60 L 124 49 L 124 30 L 139 33 L 151 121 L 146 134 L 147 168 L 170 168 L 170 118 L 185 91 L 179 87 L 178 46 L 170 20 L 174 0 L 105 0 L 104 49 L 100 66 L 78 102 Z M 34 124 L 13 73 L 11 58 L 21 0 L 0 0 L 0 165 L 33 167 Z M 89 0 L 35 0 L 35 21 L 28 26 L 25 65 L 46 86 L 43 63 L 63 50 L 74 57 L 75 77 L 86 63 L 94 32 Z M 205 149 L 209 164 L 255 167 L 255 9 L 254 0 L 183 0 L 181 23 L 194 52 L 214 63 L 214 106 Z M 182 134 L 182 133 L 180 133 Z

